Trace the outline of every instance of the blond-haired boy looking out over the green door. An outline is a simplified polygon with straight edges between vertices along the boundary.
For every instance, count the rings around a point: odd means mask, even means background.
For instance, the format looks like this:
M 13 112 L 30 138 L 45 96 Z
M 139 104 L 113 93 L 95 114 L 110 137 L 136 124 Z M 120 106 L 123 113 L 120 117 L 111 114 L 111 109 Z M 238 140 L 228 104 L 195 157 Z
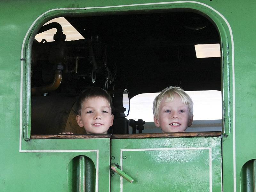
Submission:
M 184 132 L 193 122 L 193 101 L 180 87 L 167 87 L 156 96 L 153 114 L 163 132 Z

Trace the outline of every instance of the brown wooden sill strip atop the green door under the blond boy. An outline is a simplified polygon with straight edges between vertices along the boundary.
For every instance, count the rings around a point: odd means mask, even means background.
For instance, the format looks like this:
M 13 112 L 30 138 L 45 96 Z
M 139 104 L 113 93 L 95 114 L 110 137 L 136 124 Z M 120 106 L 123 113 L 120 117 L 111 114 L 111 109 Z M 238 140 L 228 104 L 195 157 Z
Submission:
M 175 133 L 140 133 L 140 134 L 114 134 L 112 139 L 161 138 L 161 137 L 206 137 L 220 136 L 221 132 L 175 132 Z

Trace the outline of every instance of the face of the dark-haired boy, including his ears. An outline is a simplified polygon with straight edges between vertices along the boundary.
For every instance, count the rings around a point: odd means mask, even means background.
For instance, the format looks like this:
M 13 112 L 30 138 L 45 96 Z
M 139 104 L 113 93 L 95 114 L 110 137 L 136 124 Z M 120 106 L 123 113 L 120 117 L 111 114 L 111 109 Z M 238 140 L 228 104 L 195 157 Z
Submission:
M 93 97 L 84 101 L 81 116 L 76 116 L 76 121 L 87 134 L 100 134 L 107 133 L 113 118 L 108 101 L 102 97 Z

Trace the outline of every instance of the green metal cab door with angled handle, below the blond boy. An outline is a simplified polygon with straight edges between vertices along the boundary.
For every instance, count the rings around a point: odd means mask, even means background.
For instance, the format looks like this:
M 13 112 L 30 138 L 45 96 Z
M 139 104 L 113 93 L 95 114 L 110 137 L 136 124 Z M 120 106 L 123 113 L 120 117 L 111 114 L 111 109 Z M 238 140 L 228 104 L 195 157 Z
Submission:
M 221 191 L 221 138 L 114 139 L 111 163 L 134 179 L 111 172 L 111 192 Z

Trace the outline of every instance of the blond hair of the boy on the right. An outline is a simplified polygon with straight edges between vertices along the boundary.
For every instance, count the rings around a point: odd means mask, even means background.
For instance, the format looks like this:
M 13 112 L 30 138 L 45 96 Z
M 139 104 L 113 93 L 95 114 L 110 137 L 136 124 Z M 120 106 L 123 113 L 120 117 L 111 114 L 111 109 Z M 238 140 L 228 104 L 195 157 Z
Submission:
M 192 115 L 193 115 L 193 101 L 192 101 L 192 99 L 180 87 L 178 87 L 178 86 L 172 87 L 171 86 L 171 87 L 166 87 L 154 99 L 153 114 L 157 119 L 158 119 L 160 104 L 161 104 L 162 100 L 164 99 L 164 97 L 166 97 L 166 102 L 169 102 L 169 101 L 172 101 L 174 99 L 175 94 L 179 95 L 182 103 L 188 106 L 189 117 L 192 117 Z

